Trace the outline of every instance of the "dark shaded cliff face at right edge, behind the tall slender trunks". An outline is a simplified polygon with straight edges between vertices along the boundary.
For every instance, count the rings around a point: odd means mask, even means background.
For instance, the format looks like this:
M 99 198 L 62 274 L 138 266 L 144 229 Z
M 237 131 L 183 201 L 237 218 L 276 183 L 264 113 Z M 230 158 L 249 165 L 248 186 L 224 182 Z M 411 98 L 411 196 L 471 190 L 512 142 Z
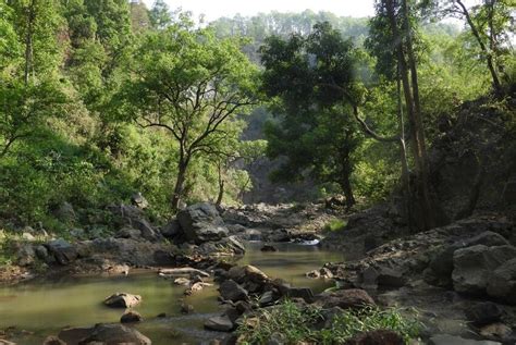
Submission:
M 515 101 L 486 103 L 465 103 L 456 119 L 443 120 L 429 151 L 431 185 L 447 222 L 516 204 Z

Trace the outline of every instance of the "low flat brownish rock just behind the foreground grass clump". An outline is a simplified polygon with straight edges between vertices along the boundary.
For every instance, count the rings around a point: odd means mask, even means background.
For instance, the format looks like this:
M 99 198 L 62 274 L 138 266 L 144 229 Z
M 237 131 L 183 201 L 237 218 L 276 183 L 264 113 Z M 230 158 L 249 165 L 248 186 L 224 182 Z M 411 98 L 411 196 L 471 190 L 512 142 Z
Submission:
M 369 294 L 359 288 L 337 289 L 322 293 L 317 296 L 317 304 L 324 309 L 340 307 L 342 309 L 360 309 L 365 306 L 374 306 L 376 303 Z

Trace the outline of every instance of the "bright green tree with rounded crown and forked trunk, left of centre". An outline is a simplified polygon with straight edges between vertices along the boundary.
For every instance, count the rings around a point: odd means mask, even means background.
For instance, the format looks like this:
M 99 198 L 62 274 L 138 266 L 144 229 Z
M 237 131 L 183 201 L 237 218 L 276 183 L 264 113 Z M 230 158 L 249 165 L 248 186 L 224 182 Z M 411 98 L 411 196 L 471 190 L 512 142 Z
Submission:
M 179 145 L 172 208 L 184 196 L 191 161 L 218 153 L 238 115 L 256 103 L 256 67 L 231 39 L 177 23 L 149 33 L 126 82 L 127 111 L 143 127 L 161 128 Z

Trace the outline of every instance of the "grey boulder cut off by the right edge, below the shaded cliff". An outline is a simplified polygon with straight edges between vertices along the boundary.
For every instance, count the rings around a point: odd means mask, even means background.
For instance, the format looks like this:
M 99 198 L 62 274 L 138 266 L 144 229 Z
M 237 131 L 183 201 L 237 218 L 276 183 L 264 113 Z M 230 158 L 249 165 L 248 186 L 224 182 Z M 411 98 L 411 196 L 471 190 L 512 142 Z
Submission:
M 516 305 L 516 258 L 505 261 L 489 276 L 488 295 Z

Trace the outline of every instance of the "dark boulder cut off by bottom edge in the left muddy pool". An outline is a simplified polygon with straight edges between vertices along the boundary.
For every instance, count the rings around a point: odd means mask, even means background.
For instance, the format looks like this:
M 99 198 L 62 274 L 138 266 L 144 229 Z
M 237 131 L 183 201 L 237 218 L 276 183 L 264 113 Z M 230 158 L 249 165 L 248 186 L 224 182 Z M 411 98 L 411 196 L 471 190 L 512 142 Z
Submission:
M 103 344 L 150 345 L 151 341 L 135 329 L 122 324 L 96 324 L 81 344 L 99 342 Z

